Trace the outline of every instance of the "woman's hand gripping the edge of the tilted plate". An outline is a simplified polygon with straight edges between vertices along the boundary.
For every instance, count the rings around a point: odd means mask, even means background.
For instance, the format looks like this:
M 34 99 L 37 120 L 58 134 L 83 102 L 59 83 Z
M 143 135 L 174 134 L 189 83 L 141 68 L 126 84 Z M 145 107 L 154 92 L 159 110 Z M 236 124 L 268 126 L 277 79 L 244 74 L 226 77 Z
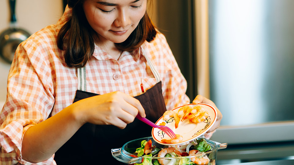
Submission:
M 207 131 L 207 133 L 214 131 L 218 127 L 220 127 L 220 120 L 223 118 L 223 115 L 220 113 L 220 110 L 218 110 L 217 106 L 213 103 L 213 101 L 201 96 L 197 95 L 195 99 L 193 100 L 193 104 L 198 104 L 198 103 L 205 103 L 208 105 L 213 106 L 217 110 L 217 121 L 214 123 L 214 125 Z

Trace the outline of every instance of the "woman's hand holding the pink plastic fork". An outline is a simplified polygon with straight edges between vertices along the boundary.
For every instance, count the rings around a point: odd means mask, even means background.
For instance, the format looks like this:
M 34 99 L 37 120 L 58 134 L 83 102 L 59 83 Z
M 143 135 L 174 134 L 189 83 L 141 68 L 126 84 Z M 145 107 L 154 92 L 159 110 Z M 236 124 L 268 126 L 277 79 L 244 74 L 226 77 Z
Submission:
M 119 91 L 85 98 L 70 106 L 82 123 L 114 125 L 120 129 L 132 123 L 138 113 L 146 116 L 139 100 Z

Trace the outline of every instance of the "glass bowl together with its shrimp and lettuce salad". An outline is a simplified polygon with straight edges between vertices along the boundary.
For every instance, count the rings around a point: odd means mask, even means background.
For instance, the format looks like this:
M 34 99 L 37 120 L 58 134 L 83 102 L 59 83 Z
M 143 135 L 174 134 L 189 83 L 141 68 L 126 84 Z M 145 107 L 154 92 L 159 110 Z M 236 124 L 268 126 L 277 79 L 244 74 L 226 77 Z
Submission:
M 161 145 L 147 137 L 129 141 L 111 152 L 120 162 L 133 165 L 214 165 L 217 150 L 226 147 L 227 143 L 220 144 L 204 136 L 178 146 Z

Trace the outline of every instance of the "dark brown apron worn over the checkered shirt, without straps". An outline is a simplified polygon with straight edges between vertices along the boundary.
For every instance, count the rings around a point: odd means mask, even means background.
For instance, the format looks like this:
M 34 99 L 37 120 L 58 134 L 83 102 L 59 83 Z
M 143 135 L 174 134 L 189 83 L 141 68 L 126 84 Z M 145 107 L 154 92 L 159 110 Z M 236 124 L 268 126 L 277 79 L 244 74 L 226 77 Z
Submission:
M 77 90 L 74 102 L 95 95 L 98 94 Z M 134 98 L 138 99 L 145 109 L 146 118 L 154 123 L 166 111 L 161 81 Z M 126 142 L 134 139 L 149 137 L 151 131 L 152 127 L 138 119 L 128 124 L 125 129 L 119 129 L 113 125 L 86 123 L 58 149 L 54 160 L 57 165 L 123 164 L 112 157 L 111 149 L 122 147 Z

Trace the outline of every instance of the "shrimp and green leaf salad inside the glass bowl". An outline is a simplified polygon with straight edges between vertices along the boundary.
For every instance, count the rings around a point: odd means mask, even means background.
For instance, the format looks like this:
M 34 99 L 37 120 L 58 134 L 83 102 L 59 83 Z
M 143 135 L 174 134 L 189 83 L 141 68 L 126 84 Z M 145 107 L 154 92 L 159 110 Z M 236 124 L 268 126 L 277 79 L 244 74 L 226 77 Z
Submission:
M 211 146 L 205 139 L 180 146 L 179 149 L 171 146 L 166 147 L 156 147 L 152 145 L 151 140 L 141 141 L 141 147 L 137 148 L 133 154 L 144 156 L 144 159 L 142 163 L 135 163 L 135 165 L 206 165 L 212 161 L 209 159 L 209 153 L 207 155 L 205 153 L 211 150 Z

